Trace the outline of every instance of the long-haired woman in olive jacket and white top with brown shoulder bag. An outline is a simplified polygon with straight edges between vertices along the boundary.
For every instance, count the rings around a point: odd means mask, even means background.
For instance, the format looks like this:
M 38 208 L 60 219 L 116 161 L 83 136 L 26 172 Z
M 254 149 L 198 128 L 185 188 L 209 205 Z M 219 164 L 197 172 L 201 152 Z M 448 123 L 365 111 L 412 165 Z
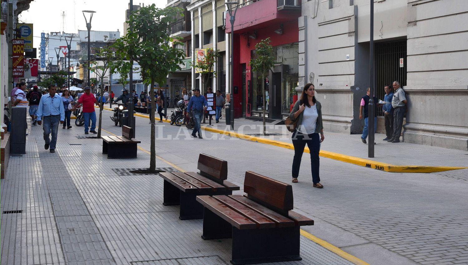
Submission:
M 325 140 L 322 125 L 322 105 L 315 99 L 315 87 L 307 84 L 302 90 L 300 100 L 296 101 L 289 118 L 297 120 L 296 129 L 292 133 L 294 145 L 294 160 L 292 161 L 292 183 L 297 183 L 299 177 L 300 161 L 304 153 L 304 147 L 310 150 L 310 162 L 312 168 L 312 180 L 314 187 L 323 188 L 320 184 L 320 143 Z M 320 133 L 320 134 L 319 134 Z

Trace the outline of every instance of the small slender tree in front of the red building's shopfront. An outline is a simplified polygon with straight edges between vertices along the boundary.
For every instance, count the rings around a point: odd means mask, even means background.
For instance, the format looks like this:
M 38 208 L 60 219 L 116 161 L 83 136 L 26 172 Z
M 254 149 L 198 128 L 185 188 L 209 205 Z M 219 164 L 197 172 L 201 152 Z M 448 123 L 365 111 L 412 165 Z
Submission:
M 262 80 L 262 99 L 263 99 L 263 135 L 265 135 L 265 77 L 268 76 L 271 68 L 275 65 L 275 58 L 273 57 L 273 46 L 270 44 L 270 38 L 261 40 L 255 45 L 256 56 L 250 60 L 252 72 L 257 72 Z

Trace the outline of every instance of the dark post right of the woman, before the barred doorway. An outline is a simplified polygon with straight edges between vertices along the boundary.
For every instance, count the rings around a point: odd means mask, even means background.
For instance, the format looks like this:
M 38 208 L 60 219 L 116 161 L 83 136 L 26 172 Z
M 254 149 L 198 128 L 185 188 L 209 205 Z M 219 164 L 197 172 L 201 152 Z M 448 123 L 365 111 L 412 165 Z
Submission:
M 374 102 L 374 90 L 375 90 L 375 73 L 374 73 L 374 0 L 371 0 L 371 30 L 370 30 L 370 37 L 371 37 L 371 47 L 370 47 L 370 79 L 371 79 L 371 98 L 369 99 L 369 144 L 367 146 L 368 154 L 367 157 L 373 158 L 374 157 L 374 140 L 375 140 L 375 109 L 374 109 L 374 104 L 377 104 L 377 102 Z M 371 120 L 372 119 L 372 120 Z

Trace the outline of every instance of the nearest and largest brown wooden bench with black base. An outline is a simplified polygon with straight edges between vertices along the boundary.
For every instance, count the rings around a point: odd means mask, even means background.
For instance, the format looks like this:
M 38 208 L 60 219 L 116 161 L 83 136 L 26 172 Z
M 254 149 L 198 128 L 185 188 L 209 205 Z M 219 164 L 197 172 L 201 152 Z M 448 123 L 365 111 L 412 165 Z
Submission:
M 300 226 L 314 221 L 295 213 L 292 186 L 245 172 L 246 195 L 197 196 L 205 207 L 203 239 L 232 237 L 232 264 L 301 260 Z

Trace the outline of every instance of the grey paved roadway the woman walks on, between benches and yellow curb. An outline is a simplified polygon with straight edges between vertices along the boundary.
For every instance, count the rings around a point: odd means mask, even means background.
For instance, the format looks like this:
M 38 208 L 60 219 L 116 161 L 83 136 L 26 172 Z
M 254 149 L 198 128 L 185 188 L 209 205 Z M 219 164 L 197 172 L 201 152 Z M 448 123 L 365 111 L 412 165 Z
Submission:
M 119 133 L 119 128 L 110 123 L 105 126 L 112 133 Z M 203 132 L 205 139 L 193 139 L 183 127 L 167 123 L 157 126 L 157 155 L 185 170 L 196 170 L 197 154 L 205 152 L 226 159 L 229 178 L 239 185 L 246 170 L 290 181 L 292 150 L 207 131 Z M 187 140 L 174 140 L 185 136 L 189 136 Z M 140 146 L 149 150 L 147 119 L 137 118 L 137 138 L 146 139 Z M 418 155 L 427 159 L 432 154 Z M 322 158 L 321 176 L 325 188 L 318 190 L 311 188 L 307 156 L 304 155 L 301 165 L 300 182 L 293 186 L 294 206 L 318 221 L 317 225 L 305 228 L 312 234 L 371 264 L 468 263 L 466 181 L 440 173 L 374 171 Z M 447 156 L 446 164 L 453 163 L 451 158 Z M 366 246 L 382 252 L 362 256 Z M 402 259 L 392 262 L 395 258 L 392 255 L 384 259 L 388 253 Z

